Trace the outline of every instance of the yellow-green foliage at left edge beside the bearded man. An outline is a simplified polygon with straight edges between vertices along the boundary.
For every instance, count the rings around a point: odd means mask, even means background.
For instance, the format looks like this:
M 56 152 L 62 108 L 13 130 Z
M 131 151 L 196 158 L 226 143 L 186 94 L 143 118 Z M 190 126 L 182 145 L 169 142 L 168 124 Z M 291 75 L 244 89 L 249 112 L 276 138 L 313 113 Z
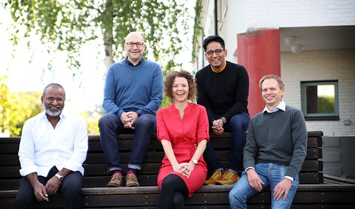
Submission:
M 0 132 L 10 137 L 21 136 L 25 121 L 42 111 L 40 92 L 10 92 L 0 77 Z

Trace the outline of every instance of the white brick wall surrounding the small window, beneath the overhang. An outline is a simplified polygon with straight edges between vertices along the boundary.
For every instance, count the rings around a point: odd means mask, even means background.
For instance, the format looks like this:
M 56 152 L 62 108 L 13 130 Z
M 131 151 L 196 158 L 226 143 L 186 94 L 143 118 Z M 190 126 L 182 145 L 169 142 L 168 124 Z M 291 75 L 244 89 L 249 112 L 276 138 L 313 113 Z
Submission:
M 310 73 L 311 72 L 311 73 Z M 324 136 L 355 135 L 355 49 L 281 53 L 286 104 L 301 108 L 300 81 L 338 80 L 339 121 L 306 121 L 308 131 Z M 349 126 L 343 120 L 349 118 Z

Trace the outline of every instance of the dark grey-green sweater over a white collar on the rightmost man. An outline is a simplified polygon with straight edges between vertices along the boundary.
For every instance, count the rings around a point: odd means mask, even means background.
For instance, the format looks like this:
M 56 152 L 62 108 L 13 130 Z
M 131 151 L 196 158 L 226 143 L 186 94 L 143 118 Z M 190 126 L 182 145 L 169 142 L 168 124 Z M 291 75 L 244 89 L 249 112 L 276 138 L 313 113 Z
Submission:
M 260 112 L 249 124 L 243 152 L 244 169 L 257 163 L 288 166 L 296 178 L 307 152 L 307 129 L 301 110 L 286 105 L 285 111 Z

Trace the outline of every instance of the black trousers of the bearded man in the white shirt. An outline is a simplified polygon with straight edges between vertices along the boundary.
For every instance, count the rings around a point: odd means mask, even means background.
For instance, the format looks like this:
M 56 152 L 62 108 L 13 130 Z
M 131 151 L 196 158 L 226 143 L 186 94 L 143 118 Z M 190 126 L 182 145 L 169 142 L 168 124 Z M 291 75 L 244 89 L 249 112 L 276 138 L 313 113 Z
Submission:
M 46 177 L 38 175 L 38 181 L 45 186 L 47 181 L 58 172 L 54 166 Z M 71 172 L 62 181 L 58 193 L 64 201 L 65 209 L 82 209 L 84 208 L 84 195 L 81 192 L 82 174 L 80 172 Z M 49 201 L 51 198 L 49 196 Z M 15 205 L 13 209 L 33 209 L 37 199 L 34 189 L 27 179 L 23 177 L 20 181 L 20 188 L 16 194 Z

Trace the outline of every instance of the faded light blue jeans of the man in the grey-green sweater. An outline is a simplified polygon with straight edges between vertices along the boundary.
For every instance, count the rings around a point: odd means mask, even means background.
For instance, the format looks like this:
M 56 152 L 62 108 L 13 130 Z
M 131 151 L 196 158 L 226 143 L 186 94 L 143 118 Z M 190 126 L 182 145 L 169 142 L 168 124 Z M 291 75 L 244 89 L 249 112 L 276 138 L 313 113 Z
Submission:
M 258 163 L 255 165 L 255 172 L 259 174 L 261 180 L 264 182 L 262 189 L 270 186 L 271 194 L 275 186 L 284 179 L 287 167 L 279 166 L 272 163 Z M 284 195 L 280 200 L 274 200 L 271 195 L 271 208 L 272 209 L 289 209 L 292 200 L 296 194 L 299 185 L 298 175 L 294 179 L 290 190 L 288 191 L 286 200 L 283 200 Z M 258 193 L 255 189 L 251 188 L 248 181 L 247 173 L 244 171 L 242 177 L 237 181 L 232 190 L 229 192 L 229 204 L 231 209 L 246 209 L 247 200 L 249 197 Z

